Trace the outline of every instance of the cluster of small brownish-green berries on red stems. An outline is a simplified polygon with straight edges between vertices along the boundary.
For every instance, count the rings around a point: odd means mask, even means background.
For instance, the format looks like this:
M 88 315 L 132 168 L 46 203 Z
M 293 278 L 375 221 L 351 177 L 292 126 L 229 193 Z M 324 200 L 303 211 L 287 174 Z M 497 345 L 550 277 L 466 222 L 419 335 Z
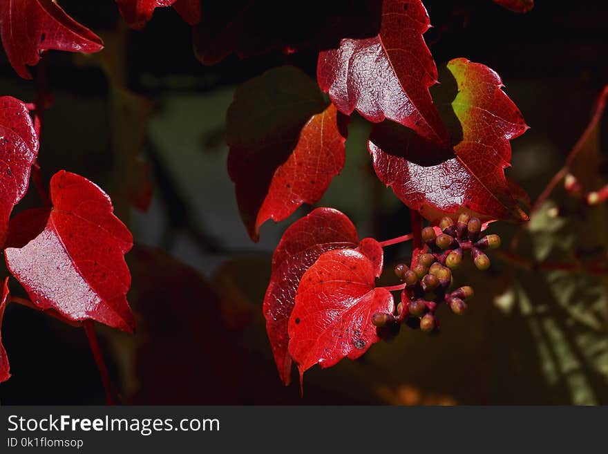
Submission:
M 441 303 L 446 303 L 455 314 L 466 311 L 466 299 L 473 296 L 473 288 L 466 285 L 450 292 L 453 283 L 452 269 L 459 267 L 466 251 L 471 252 L 477 269 L 488 269 L 490 259 L 484 249 L 500 246 L 500 236 L 486 235 L 480 238 L 482 223 L 468 214 L 461 214 L 456 223 L 443 218 L 439 223 L 441 234 L 433 227 L 422 230 L 422 238 L 429 252 L 421 252 L 412 261 L 412 267 L 399 263 L 395 274 L 405 287 L 397 315 L 374 314 L 372 323 L 386 327 L 395 323 L 406 323 L 412 328 L 426 332 L 437 330 L 435 312 Z

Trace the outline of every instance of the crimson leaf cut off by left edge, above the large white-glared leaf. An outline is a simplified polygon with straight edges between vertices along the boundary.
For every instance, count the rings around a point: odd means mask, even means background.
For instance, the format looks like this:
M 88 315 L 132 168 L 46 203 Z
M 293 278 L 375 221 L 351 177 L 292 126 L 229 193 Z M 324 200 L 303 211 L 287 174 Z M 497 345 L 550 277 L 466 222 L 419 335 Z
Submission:
M 38 138 L 23 102 L 0 97 L 0 244 L 4 244 L 12 208 L 26 195 Z

